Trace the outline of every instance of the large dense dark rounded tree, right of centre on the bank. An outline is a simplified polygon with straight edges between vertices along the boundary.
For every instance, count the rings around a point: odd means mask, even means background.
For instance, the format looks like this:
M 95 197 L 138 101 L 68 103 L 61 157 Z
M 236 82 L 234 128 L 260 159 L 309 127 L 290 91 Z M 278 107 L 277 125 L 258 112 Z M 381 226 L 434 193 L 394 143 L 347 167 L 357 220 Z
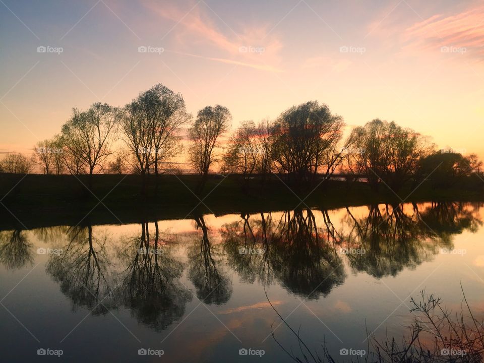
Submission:
M 317 101 L 284 111 L 274 130 L 276 169 L 297 183 L 313 181 L 320 171 L 329 178 L 341 160 L 337 146 L 343 127 L 343 119 Z M 323 166 L 326 170 L 321 169 Z

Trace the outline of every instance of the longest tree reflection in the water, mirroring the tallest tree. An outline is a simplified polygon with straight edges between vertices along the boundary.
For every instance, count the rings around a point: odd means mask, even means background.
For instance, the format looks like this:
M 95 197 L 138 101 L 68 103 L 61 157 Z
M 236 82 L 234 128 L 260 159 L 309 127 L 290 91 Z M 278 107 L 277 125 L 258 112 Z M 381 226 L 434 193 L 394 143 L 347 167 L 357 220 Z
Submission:
M 148 223 L 142 223 L 141 236 L 129 239 L 122 251 L 122 260 L 128 265 L 117 288 L 122 304 L 155 330 L 180 319 L 192 294 L 178 280 L 184 266 L 171 257 L 170 244 L 161 241 L 158 223 L 154 238 Z

